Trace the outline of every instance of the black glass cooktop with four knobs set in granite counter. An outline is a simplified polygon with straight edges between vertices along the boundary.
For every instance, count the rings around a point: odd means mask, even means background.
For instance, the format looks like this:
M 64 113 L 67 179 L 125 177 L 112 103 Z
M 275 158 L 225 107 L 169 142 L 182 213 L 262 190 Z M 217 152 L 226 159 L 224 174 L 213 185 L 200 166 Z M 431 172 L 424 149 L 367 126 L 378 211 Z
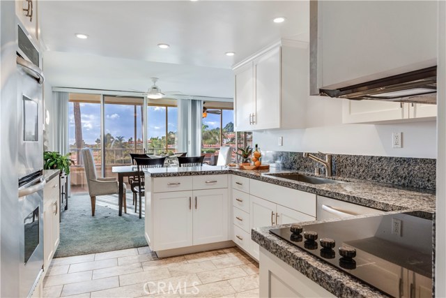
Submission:
M 432 297 L 429 220 L 389 214 L 270 232 L 387 295 Z

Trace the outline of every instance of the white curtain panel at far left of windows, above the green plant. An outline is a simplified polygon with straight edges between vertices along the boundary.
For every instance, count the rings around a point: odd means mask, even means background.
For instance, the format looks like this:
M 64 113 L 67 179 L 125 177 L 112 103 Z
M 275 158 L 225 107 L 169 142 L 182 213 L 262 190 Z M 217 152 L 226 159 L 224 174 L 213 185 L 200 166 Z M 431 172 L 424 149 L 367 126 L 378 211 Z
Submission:
M 54 126 L 54 134 L 56 140 L 54 142 L 55 151 L 60 154 L 67 154 L 68 147 L 68 92 L 53 92 L 54 103 L 56 103 L 56 119 Z

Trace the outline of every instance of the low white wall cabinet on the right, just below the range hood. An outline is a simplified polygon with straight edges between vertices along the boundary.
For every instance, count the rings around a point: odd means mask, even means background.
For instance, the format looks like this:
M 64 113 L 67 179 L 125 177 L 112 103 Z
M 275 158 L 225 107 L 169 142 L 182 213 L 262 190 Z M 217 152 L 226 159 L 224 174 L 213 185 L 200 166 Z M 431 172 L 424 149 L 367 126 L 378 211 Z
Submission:
M 342 102 L 344 124 L 428 121 L 435 120 L 436 114 L 437 105 L 422 103 L 348 99 L 343 99 Z

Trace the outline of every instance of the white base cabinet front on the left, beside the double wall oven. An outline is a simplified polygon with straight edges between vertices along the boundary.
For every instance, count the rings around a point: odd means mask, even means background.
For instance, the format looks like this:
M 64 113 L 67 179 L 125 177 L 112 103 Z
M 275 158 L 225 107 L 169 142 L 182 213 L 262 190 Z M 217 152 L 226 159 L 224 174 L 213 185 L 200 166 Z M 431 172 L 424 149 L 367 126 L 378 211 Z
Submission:
M 60 239 L 59 175 L 43 188 L 43 267 L 47 271 Z

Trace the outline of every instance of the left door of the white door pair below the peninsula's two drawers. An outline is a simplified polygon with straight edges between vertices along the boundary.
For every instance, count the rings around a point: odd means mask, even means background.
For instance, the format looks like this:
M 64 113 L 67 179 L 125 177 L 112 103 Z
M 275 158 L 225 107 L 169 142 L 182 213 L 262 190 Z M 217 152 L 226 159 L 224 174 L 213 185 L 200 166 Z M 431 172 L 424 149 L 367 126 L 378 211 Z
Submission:
M 153 250 L 192 246 L 192 191 L 154 193 Z

